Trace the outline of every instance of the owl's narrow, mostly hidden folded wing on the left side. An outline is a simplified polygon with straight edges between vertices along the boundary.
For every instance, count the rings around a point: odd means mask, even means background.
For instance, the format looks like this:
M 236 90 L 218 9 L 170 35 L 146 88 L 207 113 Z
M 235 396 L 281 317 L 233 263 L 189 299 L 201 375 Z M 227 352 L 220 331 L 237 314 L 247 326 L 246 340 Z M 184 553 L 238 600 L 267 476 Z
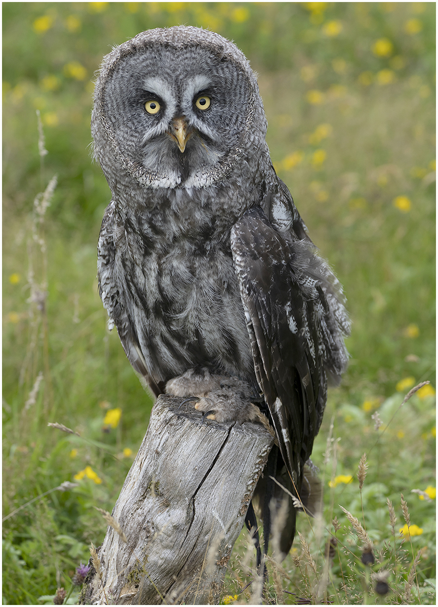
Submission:
M 117 328 L 123 350 L 134 370 L 139 373 L 151 388 L 152 392 L 159 396 L 161 390 L 149 376 L 146 369 L 145 359 L 140 349 L 137 334 L 133 328 L 128 314 L 126 313 L 122 295 L 118 289 L 117 277 L 115 276 L 115 210 L 114 202 L 106 208 L 103 215 L 102 226 L 100 229 L 97 245 L 97 278 L 99 283 L 99 295 L 103 302 L 103 307 L 108 312 L 108 328 L 111 330 L 114 325 Z

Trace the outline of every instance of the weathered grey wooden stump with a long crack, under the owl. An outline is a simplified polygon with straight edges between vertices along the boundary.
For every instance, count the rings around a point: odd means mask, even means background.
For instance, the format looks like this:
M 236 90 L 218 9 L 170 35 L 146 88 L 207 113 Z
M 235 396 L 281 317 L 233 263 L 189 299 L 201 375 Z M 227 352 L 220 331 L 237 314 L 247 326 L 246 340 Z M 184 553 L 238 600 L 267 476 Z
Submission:
M 217 602 L 234 541 L 273 444 L 261 425 L 217 424 L 163 395 L 98 549 L 84 603 Z

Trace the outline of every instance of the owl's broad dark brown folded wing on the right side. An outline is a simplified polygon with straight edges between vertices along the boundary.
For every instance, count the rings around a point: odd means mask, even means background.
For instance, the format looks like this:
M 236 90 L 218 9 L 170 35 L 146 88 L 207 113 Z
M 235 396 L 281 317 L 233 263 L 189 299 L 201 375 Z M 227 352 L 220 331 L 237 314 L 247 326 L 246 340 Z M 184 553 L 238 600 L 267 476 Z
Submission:
M 260 208 L 233 226 L 231 249 L 256 377 L 299 492 L 326 401 L 326 297 L 300 267 L 298 244 L 294 250 Z

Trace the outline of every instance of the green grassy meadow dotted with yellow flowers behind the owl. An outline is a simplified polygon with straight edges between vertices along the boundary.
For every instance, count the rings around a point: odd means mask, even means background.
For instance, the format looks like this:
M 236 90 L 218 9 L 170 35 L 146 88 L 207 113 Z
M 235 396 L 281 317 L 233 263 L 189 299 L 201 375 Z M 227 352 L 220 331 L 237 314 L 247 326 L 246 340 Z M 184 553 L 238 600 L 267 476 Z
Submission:
M 69 591 L 106 531 L 94 506 L 111 512 L 146 432 L 151 401 L 117 334 L 106 331 L 97 294 L 109 189 L 89 157 L 91 79 L 113 44 L 179 23 L 233 38 L 252 61 L 273 162 L 343 283 L 352 317 L 349 369 L 330 392 L 312 456 L 323 519 L 299 517 L 304 541 L 296 538 L 282 569 L 269 565 L 269 597 L 436 603 L 435 500 L 412 493 L 435 487 L 434 386 L 400 407 L 413 385 L 434 377 L 434 11 L 432 3 L 2 5 L 5 604 L 53 602 L 56 588 Z M 50 205 L 38 214 L 35 196 L 55 174 Z M 64 481 L 77 486 L 55 489 Z M 422 529 L 411 538 L 399 533 L 401 493 L 411 525 Z M 371 538 L 371 567 L 340 506 Z M 224 589 L 244 602 L 246 543 L 242 534 Z M 372 589 L 379 569 L 389 571 L 384 597 Z

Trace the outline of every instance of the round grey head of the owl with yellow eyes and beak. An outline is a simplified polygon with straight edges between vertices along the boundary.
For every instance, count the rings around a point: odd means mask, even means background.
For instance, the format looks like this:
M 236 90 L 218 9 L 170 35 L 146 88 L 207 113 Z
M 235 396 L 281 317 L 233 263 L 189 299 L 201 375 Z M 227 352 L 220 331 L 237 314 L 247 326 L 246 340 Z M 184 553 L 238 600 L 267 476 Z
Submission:
M 103 60 L 92 134 L 112 189 L 217 185 L 265 148 L 266 128 L 254 72 L 216 33 L 148 30 Z

